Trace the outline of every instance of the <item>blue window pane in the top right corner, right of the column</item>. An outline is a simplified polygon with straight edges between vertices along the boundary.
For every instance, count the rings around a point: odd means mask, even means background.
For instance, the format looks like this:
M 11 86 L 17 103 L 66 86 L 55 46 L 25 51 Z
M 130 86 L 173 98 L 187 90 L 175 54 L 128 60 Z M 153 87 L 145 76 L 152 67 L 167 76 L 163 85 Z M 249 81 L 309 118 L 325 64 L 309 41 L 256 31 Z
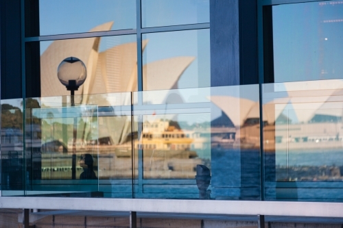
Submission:
M 272 22 L 275 82 L 342 77 L 342 1 L 274 5 Z

